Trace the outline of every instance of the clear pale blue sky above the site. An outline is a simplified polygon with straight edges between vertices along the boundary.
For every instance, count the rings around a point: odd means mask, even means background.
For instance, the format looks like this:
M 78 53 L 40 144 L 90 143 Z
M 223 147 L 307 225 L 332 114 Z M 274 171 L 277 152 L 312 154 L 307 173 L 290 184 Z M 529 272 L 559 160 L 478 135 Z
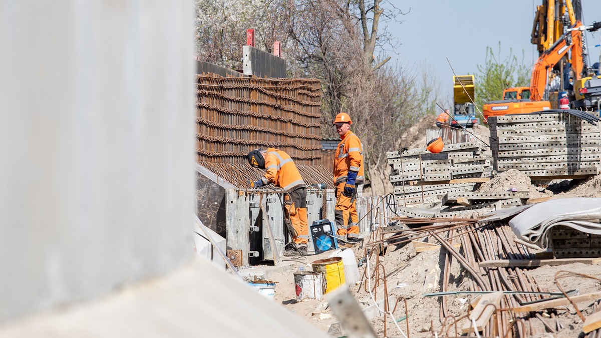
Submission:
M 387 23 L 389 31 L 401 43 L 386 54 L 404 67 L 419 69 L 426 63 L 438 76 L 441 90 L 453 91 L 453 72 L 457 75 L 477 72 L 476 65 L 484 64 L 486 46 L 507 56 L 510 48 L 518 60 L 524 52 L 525 63 L 538 57 L 530 43 L 536 6 L 542 0 L 421 0 L 394 1 L 397 8 L 409 12 L 397 19 L 402 23 Z M 601 21 L 601 0 L 582 0 L 584 23 Z M 591 63 L 599 61 L 601 31 L 588 34 Z

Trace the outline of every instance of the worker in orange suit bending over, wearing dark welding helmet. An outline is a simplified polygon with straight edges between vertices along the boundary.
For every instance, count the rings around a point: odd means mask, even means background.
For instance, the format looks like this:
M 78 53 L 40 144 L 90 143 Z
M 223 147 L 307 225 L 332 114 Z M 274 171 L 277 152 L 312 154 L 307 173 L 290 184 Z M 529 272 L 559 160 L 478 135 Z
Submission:
M 260 180 L 252 183 L 254 188 L 273 183 L 286 191 L 284 206 L 294 232 L 291 245 L 284 251 L 285 256 L 307 255 L 309 228 L 307 226 L 307 186 L 294 162 L 287 153 L 269 148 L 255 149 L 246 156 L 249 164 L 255 168 L 266 169 L 267 172 Z

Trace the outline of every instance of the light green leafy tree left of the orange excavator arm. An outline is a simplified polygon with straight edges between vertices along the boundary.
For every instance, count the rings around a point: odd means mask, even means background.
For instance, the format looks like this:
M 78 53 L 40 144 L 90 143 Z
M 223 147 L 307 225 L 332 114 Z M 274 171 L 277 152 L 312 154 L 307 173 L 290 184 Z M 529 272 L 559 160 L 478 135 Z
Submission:
M 531 66 L 524 64 L 523 50 L 521 62 L 517 61 L 511 49 L 507 57 L 501 58 L 500 41 L 496 55 L 492 48 L 487 46 L 484 65 L 478 64 L 476 67 L 478 72 L 475 74 L 475 102 L 480 108 L 486 102 L 501 100 L 505 88 L 530 85 Z

